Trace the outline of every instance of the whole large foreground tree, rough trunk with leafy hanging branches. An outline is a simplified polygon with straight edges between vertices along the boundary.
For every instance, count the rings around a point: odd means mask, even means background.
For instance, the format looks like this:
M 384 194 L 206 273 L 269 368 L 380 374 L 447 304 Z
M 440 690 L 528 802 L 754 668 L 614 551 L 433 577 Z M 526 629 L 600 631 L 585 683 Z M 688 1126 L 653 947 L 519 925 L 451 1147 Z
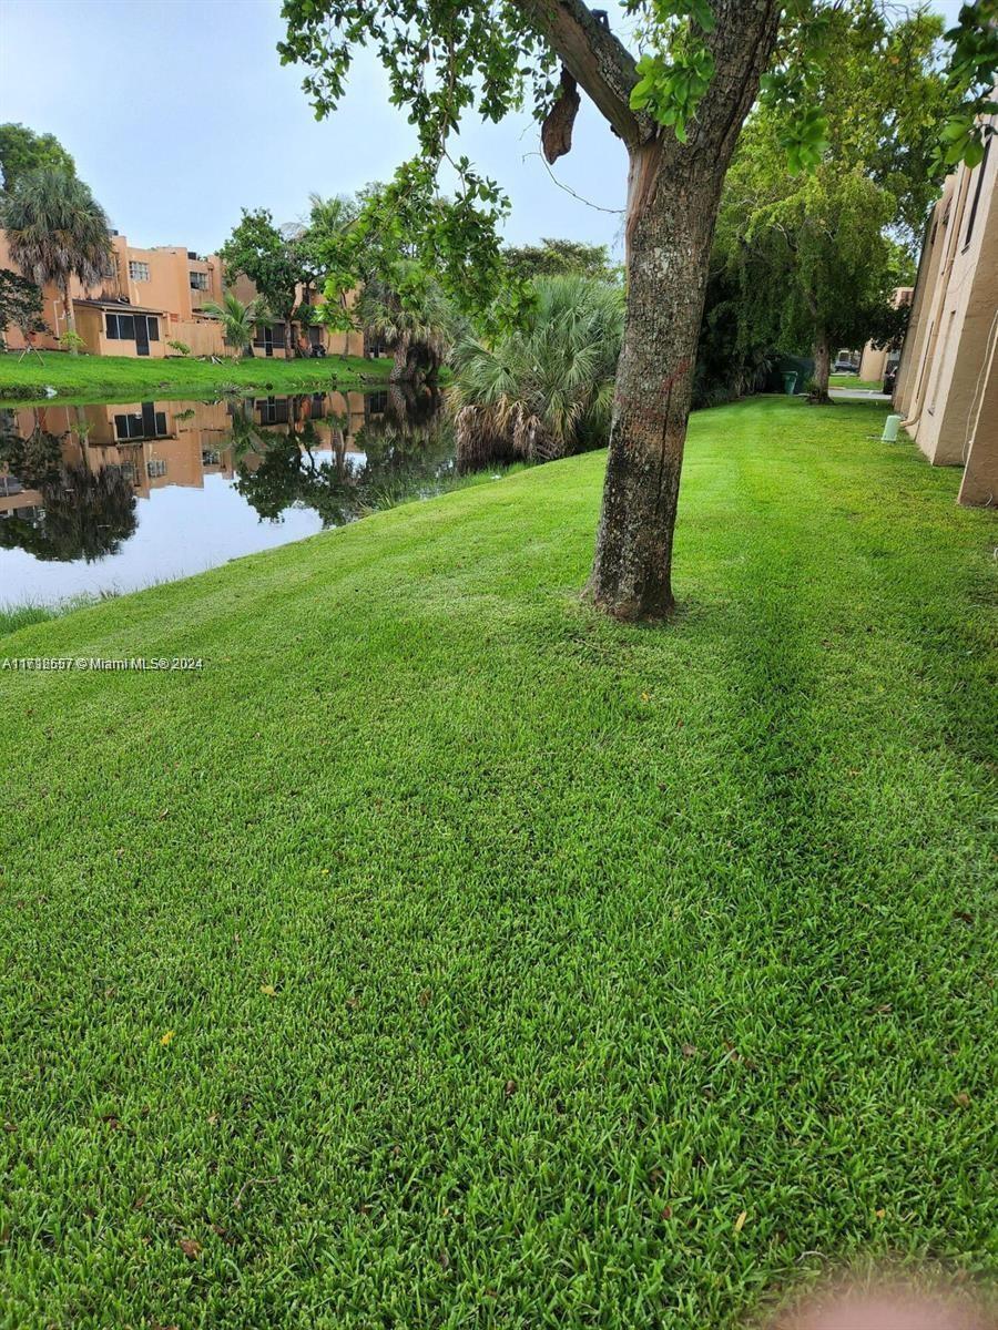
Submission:
M 858 3 L 858 0 L 852 0 Z M 410 110 L 420 156 L 399 170 L 383 206 L 354 229 L 415 234 L 423 267 L 458 299 L 483 307 L 503 279 L 495 222 L 498 186 L 448 141 L 476 108 L 499 120 L 532 85 L 546 116 L 543 146 L 555 160 L 571 146 L 579 89 L 629 154 L 627 323 L 616 376 L 609 458 L 596 556 L 595 601 L 623 618 L 672 608 L 672 532 L 711 242 L 725 172 L 760 80 L 774 59 L 769 96 L 796 106 L 786 152 L 817 164 L 826 124 L 810 105 L 809 66 L 828 53 L 822 0 L 625 0 L 640 60 L 580 0 L 285 0 L 282 60 L 309 66 L 317 113 L 339 101 L 358 45 L 371 43 L 389 70 L 393 100 Z M 986 32 L 974 13 L 974 40 Z M 785 20 L 781 31 L 781 20 Z M 961 15 L 963 25 L 963 15 Z M 986 39 L 986 40 L 990 40 Z M 963 48 L 970 51 L 970 45 Z M 974 48 L 977 51 L 977 48 Z M 973 52 L 971 52 L 973 55 Z M 953 144 L 973 130 L 974 98 L 993 52 L 957 76 L 954 98 L 970 106 Z M 555 76 L 560 65 L 560 81 Z M 991 65 L 991 69 L 994 65 Z M 970 128 L 967 128 L 970 125 Z M 978 136 L 979 137 L 979 136 Z M 448 160 L 459 186 L 444 205 L 436 170 Z M 349 257 L 349 255 L 347 255 Z M 508 269 L 506 269 L 508 274 Z M 343 263 L 341 279 L 349 278 Z M 511 313 L 523 298 L 514 290 Z

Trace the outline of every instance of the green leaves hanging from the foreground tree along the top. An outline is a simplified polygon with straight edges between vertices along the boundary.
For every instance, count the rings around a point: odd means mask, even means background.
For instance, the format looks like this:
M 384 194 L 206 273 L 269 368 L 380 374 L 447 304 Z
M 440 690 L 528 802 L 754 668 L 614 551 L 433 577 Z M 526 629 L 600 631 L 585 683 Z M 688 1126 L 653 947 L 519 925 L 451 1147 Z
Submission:
M 923 105 L 923 134 L 938 141 L 949 117 L 947 134 L 958 134 L 949 150 L 977 152 L 982 130 L 971 124 L 953 129 L 954 116 L 971 121 L 986 108 L 982 92 L 993 76 L 994 33 L 987 29 L 998 0 L 982 0 L 961 11 L 949 35 L 953 61 L 939 96 Z M 821 102 L 820 85 L 833 69 L 841 12 L 857 20 L 857 32 L 869 25 L 869 40 L 882 48 L 882 0 L 789 0 L 784 5 L 780 45 L 764 84 L 764 101 L 781 121 L 780 148 L 792 170 L 814 169 L 826 156 L 840 126 Z M 515 319 L 530 302 L 528 289 L 510 281 L 496 227 L 508 210 L 498 184 L 476 172 L 467 157 L 452 156 L 450 138 L 462 117 L 478 112 L 499 121 L 530 102 L 540 120 L 555 100 L 556 39 L 551 24 L 566 11 L 574 32 L 589 44 L 603 73 L 612 65 L 611 96 L 629 102 L 641 141 L 675 134 L 685 141 L 713 76 L 707 37 L 715 27 L 709 0 L 625 0 L 635 20 L 639 59 L 635 61 L 615 37 L 601 29 L 584 4 L 548 7 L 531 0 L 285 0 L 286 39 L 278 51 L 282 63 L 306 68 L 305 90 L 317 117 L 329 114 L 343 96 L 354 53 L 370 45 L 387 70 L 390 100 L 406 108 L 416 129 L 418 156 L 403 164 L 395 178 L 362 209 L 355 225 L 327 249 L 327 295 L 347 290 L 357 279 L 363 251 L 375 245 L 382 271 L 403 245 L 414 246 L 411 265 L 393 283 L 405 298 L 418 299 L 414 275 L 434 273 L 447 293 L 468 313 L 488 310 L 500 323 Z M 925 20 L 923 23 L 930 23 Z M 612 45 L 609 61 L 600 61 Z M 886 57 L 894 59 L 888 51 Z M 900 70 L 904 72 L 902 53 Z M 604 113 L 605 109 L 604 109 Z M 612 118 L 608 114 L 608 118 Z M 962 124 L 962 121 L 961 121 Z M 881 144 L 884 173 L 890 152 Z M 442 198 L 438 170 L 452 169 L 456 189 Z M 897 196 L 897 192 L 896 192 Z

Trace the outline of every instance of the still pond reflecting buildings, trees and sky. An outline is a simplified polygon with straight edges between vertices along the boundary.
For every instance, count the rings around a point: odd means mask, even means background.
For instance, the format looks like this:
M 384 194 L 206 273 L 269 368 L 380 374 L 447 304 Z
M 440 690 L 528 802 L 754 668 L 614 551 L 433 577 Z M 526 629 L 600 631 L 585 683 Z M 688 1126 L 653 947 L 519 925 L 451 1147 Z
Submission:
M 0 606 L 186 577 L 454 471 L 428 391 L 0 410 Z

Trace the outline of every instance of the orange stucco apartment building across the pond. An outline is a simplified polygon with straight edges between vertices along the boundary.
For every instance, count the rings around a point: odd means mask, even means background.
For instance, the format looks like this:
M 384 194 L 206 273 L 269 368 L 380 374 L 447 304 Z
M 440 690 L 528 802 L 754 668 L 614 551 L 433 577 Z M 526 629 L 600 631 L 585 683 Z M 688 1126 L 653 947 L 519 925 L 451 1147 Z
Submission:
M 0 267 L 16 269 L 7 237 L 0 231 Z M 177 245 L 140 249 L 125 235 L 112 237 L 112 255 L 101 281 L 85 287 L 73 279 L 71 298 L 76 331 L 92 355 L 126 355 L 162 358 L 180 354 L 170 342 L 181 342 L 192 355 L 229 355 L 218 319 L 204 313 L 208 302 L 221 302 L 224 294 L 222 262 L 217 254 L 202 257 Z M 245 277 L 236 282 L 242 301 L 257 295 Z M 299 299 L 303 293 L 299 290 Z M 313 295 L 311 303 L 318 303 Z M 43 290 L 43 318 L 47 332 L 35 336 L 41 350 L 59 350 L 67 331 L 63 297 L 53 286 Z M 321 347 L 327 355 L 363 355 L 363 334 L 333 332 L 325 327 L 297 323 L 294 342 L 299 354 Z M 24 339 L 16 329 L 7 330 L 11 350 L 23 350 Z M 283 359 L 283 325 L 261 323 L 254 338 L 257 355 Z

